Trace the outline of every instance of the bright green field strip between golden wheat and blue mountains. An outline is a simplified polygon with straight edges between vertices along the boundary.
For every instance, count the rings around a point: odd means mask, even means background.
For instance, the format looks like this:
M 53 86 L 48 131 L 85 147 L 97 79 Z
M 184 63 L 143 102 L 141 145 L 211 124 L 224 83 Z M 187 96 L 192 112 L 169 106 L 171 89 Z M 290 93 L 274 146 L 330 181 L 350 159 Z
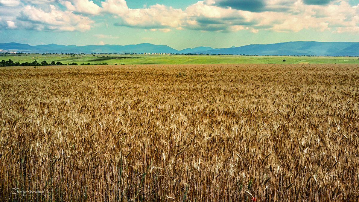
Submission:
M 358 57 L 327 56 L 237 56 L 237 55 L 70 55 L 11 54 L 0 55 L 1 60 L 14 62 L 60 61 L 64 64 L 107 63 L 129 64 L 359 64 Z M 283 62 L 285 59 L 285 62 Z

